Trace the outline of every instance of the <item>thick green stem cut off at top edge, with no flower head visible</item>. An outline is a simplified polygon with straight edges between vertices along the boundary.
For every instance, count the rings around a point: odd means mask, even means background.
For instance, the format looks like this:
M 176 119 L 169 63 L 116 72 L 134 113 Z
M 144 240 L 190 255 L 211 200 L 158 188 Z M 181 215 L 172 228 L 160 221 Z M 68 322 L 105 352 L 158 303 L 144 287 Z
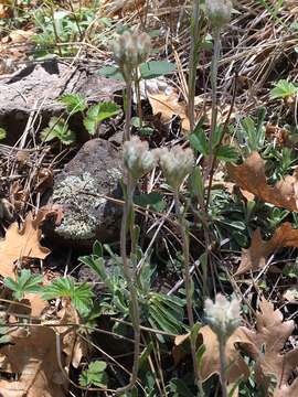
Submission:
M 200 31 L 201 31 L 200 0 L 193 0 L 193 15 L 191 21 L 191 52 L 190 52 L 190 62 L 189 62 L 189 103 L 188 103 L 188 112 L 189 112 L 191 131 L 193 131 L 195 126 L 194 97 L 195 97 L 196 67 L 199 63 Z

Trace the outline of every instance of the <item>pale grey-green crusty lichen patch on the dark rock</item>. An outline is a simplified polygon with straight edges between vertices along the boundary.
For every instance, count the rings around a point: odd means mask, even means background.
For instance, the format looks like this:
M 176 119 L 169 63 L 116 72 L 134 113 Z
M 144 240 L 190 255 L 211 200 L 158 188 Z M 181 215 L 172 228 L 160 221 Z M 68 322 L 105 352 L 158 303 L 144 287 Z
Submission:
M 116 178 L 107 182 L 113 185 Z M 107 200 L 98 194 L 98 182 L 88 172 L 84 172 L 82 176 L 70 175 L 58 182 L 54 189 L 53 201 L 61 204 L 65 211 L 56 233 L 72 240 L 95 238 L 100 223 L 109 222 L 103 217 Z

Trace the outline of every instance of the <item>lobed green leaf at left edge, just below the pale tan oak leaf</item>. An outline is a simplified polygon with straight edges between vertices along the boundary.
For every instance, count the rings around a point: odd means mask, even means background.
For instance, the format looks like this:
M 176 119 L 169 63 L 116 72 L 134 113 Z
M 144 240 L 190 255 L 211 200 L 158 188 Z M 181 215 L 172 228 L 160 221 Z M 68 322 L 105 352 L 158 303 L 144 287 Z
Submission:
M 11 277 L 4 278 L 4 286 L 12 291 L 14 299 L 22 300 L 25 293 L 40 292 L 42 280 L 42 276 L 35 276 L 30 270 L 22 269 L 15 280 Z

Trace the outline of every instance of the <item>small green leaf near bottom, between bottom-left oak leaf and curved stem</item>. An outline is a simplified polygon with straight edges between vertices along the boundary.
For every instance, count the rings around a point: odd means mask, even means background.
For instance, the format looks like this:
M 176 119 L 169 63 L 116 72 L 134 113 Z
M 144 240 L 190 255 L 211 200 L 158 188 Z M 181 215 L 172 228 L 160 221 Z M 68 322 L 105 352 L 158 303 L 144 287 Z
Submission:
M 103 361 L 89 363 L 88 367 L 83 369 L 79 375 L 79 385 L 83 387 L 91 387 L 94 385 L 105 388 L 107 384 L 106 367 L 107 364 Z

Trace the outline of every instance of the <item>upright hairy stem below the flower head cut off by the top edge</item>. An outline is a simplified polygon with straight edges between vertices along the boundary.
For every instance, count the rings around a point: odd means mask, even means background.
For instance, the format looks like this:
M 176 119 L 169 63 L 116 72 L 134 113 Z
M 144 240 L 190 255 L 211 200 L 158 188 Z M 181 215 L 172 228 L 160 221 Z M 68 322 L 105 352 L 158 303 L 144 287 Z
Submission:
M 213 162 L 213 138 L 217 122 L 217 72 L 221 50 L 221 30 L 215 28 L 213 30 L 214 49 L 211 63 L 211 88 L 212 88 L 212 114 L 211 114 L 211 130 L 209 137 L 209 168 L 207 175 L 210 174 Z

